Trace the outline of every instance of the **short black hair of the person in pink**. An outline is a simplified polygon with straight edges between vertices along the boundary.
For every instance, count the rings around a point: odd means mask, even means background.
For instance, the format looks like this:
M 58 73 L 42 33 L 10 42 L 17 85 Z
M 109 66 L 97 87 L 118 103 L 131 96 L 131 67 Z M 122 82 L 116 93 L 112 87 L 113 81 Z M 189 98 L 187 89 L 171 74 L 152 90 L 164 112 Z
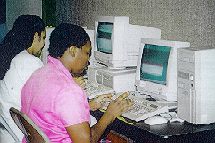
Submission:
M 81 26 L 61 23 L 52 31 L 49 41 L 49 55 L 57 58 L 70 46 L 81 48 L 90 41 L 90 37 Z

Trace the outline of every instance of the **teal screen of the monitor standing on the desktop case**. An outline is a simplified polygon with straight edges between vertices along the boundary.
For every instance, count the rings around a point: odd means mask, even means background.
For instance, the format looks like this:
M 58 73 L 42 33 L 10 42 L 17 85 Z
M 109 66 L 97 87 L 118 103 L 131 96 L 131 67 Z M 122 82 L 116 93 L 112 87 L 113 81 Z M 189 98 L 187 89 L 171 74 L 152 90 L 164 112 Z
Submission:
M 112 54 L 112 32 L 113 23 L 98 22 L 96 44 L 97 50 L 103 53 Z

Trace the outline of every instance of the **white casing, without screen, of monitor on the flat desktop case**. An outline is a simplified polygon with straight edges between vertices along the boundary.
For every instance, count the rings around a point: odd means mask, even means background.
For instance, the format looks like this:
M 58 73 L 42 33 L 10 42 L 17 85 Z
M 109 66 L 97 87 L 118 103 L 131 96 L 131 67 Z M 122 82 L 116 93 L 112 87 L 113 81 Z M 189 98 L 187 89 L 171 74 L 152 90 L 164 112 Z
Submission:
M 113 23 L 112 54 L 99 52 L 96 36 L 98 22 Z M 136 67 L 141 38 L 161 38 L 161 30 L 155 27 L 129 24 L 126 16 L 100 16 L 95 21 L 95 59 L 113 69 Z

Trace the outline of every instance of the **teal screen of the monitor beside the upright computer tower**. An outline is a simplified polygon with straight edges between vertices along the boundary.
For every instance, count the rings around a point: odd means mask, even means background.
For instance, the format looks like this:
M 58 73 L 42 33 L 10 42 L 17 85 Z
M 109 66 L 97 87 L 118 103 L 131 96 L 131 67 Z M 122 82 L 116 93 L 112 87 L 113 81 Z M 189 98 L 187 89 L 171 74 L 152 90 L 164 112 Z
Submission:
M 166 85 L 171 47 L 145 44 L 142 53 L 140 80 Z

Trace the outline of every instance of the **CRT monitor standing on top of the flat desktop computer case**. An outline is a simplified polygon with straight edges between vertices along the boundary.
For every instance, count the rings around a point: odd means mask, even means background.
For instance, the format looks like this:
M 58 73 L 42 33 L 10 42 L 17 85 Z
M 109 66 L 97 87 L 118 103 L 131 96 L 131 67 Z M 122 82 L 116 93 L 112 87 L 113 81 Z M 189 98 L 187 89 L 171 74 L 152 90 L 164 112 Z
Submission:
M 160 37 L 160 29 L 131 25 L 129 17 L 99 16 L 95 21 L 94 57 L 114 69 L 137 66 L 140 39 Z

